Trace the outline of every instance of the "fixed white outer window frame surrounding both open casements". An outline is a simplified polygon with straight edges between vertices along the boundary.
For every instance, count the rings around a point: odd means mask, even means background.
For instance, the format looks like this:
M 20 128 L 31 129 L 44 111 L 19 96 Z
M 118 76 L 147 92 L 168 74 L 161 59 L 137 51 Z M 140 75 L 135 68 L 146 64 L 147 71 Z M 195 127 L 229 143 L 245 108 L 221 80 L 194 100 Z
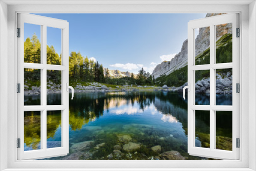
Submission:
M 7 127 L 4 122 L 8 121 L 7 131 L 5 127 L 1 127 L 1 156 L 0 160 L 4 164 L 2 168 L 8 168 L 8 170 L 19 170 L 18 168 L 26 168 L 25 170 L 39 170 L 38 168 L 46 168 L 45 170 L 74 170 L 67 169 L 73 166 L 73 168 L 84 168 L 81 170 L 93 170 L 90 168 L 99 168 L 98 170 L 122 170 L 121 168 L 131 168 L 131 170 L 255 170 L 255 115 L 256 107 L 256 70 L 255 70 L 255 46 L 256 46 L 256 35 L 255 35 L 255 15 L 256 6 L 254 1 L 151 1 L 151 2 L 126 2 L 126 5 L 122 5 L 125 2 L 69 2 L 71 5 L 52 5 L 54 3 L 60 3 L 52 1 L 51 5 L 49 1 L 38 2 L 15 2 L 15 1 L 5 1 L 6 3 L 34 3 L 33 5 L 9 5 L 8 12 L 6 11 L 6 5 L 1 2 L 0 12 L 8 15 L 8 51 L 3 50 L 5 47 L 4 42 L 7 41 L 7 36 L 5 39 L 0 40 L 2 42 L 1 46 L 1 61 L 8 62 L 8 75 L 3 73 L 1 70 L 2 81 L 8 81 L 8 118 L 6 115 L 1 113 L 1 126 Z M 209 2 L 209 3 L 208 3 Z M 65 2 L 63 2 L 65 3 Z M 77 5 L 75 5 L 77 3 Z M 82 4 L 83 3 L 83 4 Z M 90 4 L 91 3 L 91 4 Z M 116 4 L 115 4 L 116 3 Z M 204 5 L 201 5 L 204 3 Z M 207 5 L 208 3 L 208 5 Z M 221 4 L 220 4 L 221 3 Z M 234 3 L 234 4 L 233 4 Z M 180 5 L 177 5 L 180 4 Z M 205 5 L 206 4 L 206 5 Z M 210 4 L 210 5 L 209 5 Z M 226 4 L 226 5 L 225 5 Z M 3 10 L 3 8 L 4 10 Z M 3 11 L 2 11 L 3 10 Z M 248 13 L 249 11 L 249 13 Z M 223 12 L 238 12 L 240 13 L 240 28 L 241 28 L 241 39 L 240 39 L 240 78 L 241 78 L 241 96 L 240 96 L 240 160 L 224 160 L 224 161 L 17 161 L 16 156 L 16 38 L 15 38 L 15 28 L 16 28 L 16 14 L 18 12 L 31 12 L 31 13 L 223 13 Z M 5 16 L 0 16 L 1 27 L 7 27 Z M 2 25 L 2 22 L 4 25 Z M 5 29 L 0 30 L 1 36 L 7 33 Z M 250 34 L 250 36 L 248 36 Z M 2 38 L 2 37 L 1 37 Z M 250 44 L 249 44 L 250 42 Z M 8 60 L 3 58 L 2 54 L 8 54 Z M 243 59 L 243 62 L 242 62 Z M 249 62 L 250 60 L 250 62 Z M 1 64 L 0 64 L 1 65 Z M 249 69 L 250 67 L 250 73 Z M 1 68 L 0 68 L 1 69 Z M 248 79 L 248 76 L 251 76 Z M 253 77 L 254 76 L 254 77 Z M 249 84 L 248 86 L 248 83 Z M 7 87 L 6 84 L 2 84 L 1 88 Z M 252 88 L 250 94 L 248 93 L 248 88 Z M 7 95 L 4 90 L 0 89 L 0 93 Z M 248 97 L 249 96 L 249 97 Z M 4 97 L 1 94 L 1 100 Z M 250 99 L 250 101 L 249 101 Z M 250 103 L 250 106 L 248 106 Z M 1 101 L 0 105 L 3 106 Z M 3 108 L 2 108 L 3 109 Z M 2 110 L 1 109 L 1 110 Z M 5 109 L 4 109 L 5 110 Z M 4 130 L 5 129 L 5 130 Z M 250 137 L 248 136 L 248 132 Z M 15 133 L 15 134 L 13 134 Z M 5 149 L 7 145 L 8 149 Z M 249 150 L 250 148 L 250 150 Z M 7 159 L 4 157 L 8 156 Z M 4 162 L 7 162 L 5 164 Z M 62 168 L 62 169 L 61 169 Z M 118 169 L 119 168 L 119 169 Z M 136 169 L 137 168 L 137 169 Z M 150 169 L 151 168 L 151 169 Z M 164 169 L 165 168 L 165 169 Z M 176 169 L 177 168 L 177 169 Z M 182 169 L 183 168 L 183 169 Z M 251 168 L 251 169 L 250 169 Z M 95 170 L 95 169 L 94 169 Z M 123 169 L 127 170 L 127 169 Z

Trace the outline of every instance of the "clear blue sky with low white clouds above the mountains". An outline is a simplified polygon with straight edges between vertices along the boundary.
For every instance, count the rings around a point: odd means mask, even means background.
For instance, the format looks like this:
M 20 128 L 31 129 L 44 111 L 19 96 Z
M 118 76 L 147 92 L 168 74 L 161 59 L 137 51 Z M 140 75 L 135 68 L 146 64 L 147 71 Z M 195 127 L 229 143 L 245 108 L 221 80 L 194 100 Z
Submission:
M 189 20 L 206 14 L 36 15 L 69 22 L 70 52 L 93 57 L 111 70 L 138 73 L 143 67 L 151 73 L 157 64 L 180 52 Z M 25 25 L 25 38 L 34 33 L 39 35 L 40 28 Z M 57 53 L 61 50 L 60 36 L 59 29 L 47 28 L 47 45 L 53 45 Z

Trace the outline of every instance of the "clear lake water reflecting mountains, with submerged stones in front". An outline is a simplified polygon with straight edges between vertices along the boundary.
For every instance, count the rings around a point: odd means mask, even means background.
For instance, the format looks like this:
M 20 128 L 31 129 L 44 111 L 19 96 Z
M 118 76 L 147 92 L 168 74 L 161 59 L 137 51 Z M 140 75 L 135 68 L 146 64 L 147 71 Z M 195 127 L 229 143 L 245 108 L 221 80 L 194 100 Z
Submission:
M 47 97 L 52 104 L 61 100 L 59 94 Z M 26 104 L 31 105 L 33 101 L 29 99 L 36 97 L 25 99 Z M 201 99 L 205 101 L 207 97 Z M 70 153 L 47 160 L 205 159 L 187 154 L 187 101 L 183 100 L 182 94 L 162 91 L 75 93 L 74 99 L 70 100 L 69 114 Z M 37 135 L 40 122 L 31 119 L 38 115 L 25 115 L 27 150 L 40 147 L 40 136 Z M 196 124 L 196 146 L 209 146 L 209 121 L 205 116 L 198 114 L 196 117 L 196 123 L 200 123 Z M 230 119 L 229 115 L 223 116 L 224 123 L 230 127 L 230 123 L 225 122 Z M 56 147 L 61 141 L 61 122 L 56 120 L 60 120 L 61 115 L 52 112 L 50 117 L 47 119 L 47 146 Z M 31 127 L 34 130 L 28 132 Z M 220 145 L 228 148 L 232 143 L 230 130 L 228 126 L 219 127 L 220 136 L 225 137 L 225 143 Z

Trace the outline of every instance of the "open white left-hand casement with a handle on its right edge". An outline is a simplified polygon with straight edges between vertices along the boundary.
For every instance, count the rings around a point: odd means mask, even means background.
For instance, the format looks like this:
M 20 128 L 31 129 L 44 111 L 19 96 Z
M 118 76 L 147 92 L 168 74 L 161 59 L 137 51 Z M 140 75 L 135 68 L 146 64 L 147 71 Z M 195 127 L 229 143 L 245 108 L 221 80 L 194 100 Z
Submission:
M 24 61 L 24 29 L 25 25 L 33 25 L 40 29 L 40 52 L 34 58 L 33 63 Z M 61 61 L 60 65 L 51 65 L 47 61 L 47 29 L 58 28 L 61 30 Z M 17 15 L 17 83 L 20 85 L 20 93 L 17 93 L 17 159 L 41 159 L 67 155 L 69 153 L 69 23 L 65 20 L 42 17 L 33 14 L 19 13 Z M 24 101 L 24 73 L 37 72 L 40 82 L 40 101 L 37 104 L 26 104 Z M 59 105 L 47 103 L 47 73 L 56 72 L 61 77 L 61 102 Z M 28 80 L 29 78 L 27 78 Z M 55 146 L 47 141 L 47 114 L 59 113 L 61 124 L 61 139 L 55 141 Z M 25 120 L 24 116 L 30 115 L 30 119 L 40 122 L 40 133 L 34 135 L 31 141 L 38 141 L 36 149 L 25 149 Z M 51 119 L 51 118 L 50 118 Z M 33 129 L 31 127 L 31 129 Z M 32 134 L 35 134 L 32 132 Z M 35 140 L 36 139 L 36 140 Z

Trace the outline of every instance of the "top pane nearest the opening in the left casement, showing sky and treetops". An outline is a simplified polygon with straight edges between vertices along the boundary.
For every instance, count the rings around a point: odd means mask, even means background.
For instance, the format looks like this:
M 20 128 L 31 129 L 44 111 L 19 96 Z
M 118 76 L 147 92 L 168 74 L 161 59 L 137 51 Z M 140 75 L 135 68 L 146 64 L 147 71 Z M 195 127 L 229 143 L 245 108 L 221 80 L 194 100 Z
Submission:
M 47 27 L 47 64 L 61 65 L 61 29 Z

